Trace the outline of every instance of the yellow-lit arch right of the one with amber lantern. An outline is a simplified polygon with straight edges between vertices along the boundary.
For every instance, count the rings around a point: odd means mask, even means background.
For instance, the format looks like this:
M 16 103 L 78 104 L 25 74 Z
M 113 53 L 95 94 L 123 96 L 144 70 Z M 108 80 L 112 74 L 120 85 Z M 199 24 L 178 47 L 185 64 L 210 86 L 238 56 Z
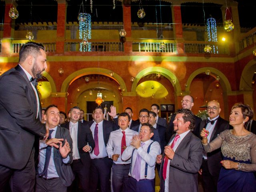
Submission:
M 158 73 L 158 72 L 160 72 L 160 74 L 162 76 L 166 77 L 170 81 L 170 83 L 174 87 L 174 91 L 176 94 L 179 94 L 181 92 L 180 83 L 178 81 L 178 78 L 170 70 L 162 68 L 162 67 L 149 67 L 149 68 L 146 68 L 146 69 L 140 71 L 134 78 L 134 82 L 132 83 L 131 91 L 136 92 L 136 87 L 142 77 L 144 77 L 148 74 Z

